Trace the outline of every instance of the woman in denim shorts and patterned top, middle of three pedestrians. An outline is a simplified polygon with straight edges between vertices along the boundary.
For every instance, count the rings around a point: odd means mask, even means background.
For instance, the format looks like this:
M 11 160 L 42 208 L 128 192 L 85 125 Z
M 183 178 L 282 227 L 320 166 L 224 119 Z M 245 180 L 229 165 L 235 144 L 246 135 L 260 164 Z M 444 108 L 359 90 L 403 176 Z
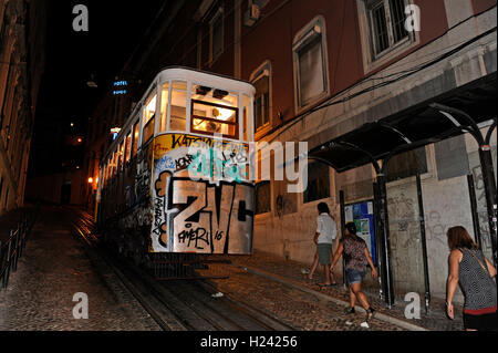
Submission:
M 362 281 L 366 273 L 366 264 L 370 264 L 372 268 L 372 277 L 374 279 L 378 277 L 378 273 L 373 264 L 365 241 L 356 236 L 356 226 L 353 222 L 345 225 L 344 237 L 341 239 L 332 259 L 332 266 L 330 268 L 332 272 L 341 255 L 345 259 L 345 274 L 347 285 L 350 287 L 350 308 L 347 313 L 354 313 L 354 305 L 356 304 L 356 300 L 359 300 L 366 311 L 366 322 L 369 322 L 374 315 L 374 309 L 370 305 L 365 293 L 362 292 Z

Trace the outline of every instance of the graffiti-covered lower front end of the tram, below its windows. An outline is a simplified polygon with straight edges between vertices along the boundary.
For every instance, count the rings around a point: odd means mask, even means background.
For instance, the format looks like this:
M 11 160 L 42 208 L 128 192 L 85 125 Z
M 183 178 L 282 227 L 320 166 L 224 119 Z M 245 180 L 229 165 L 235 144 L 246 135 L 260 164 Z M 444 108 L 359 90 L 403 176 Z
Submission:
M 247 148 L 168 134 L 154 145 L 153 252 L 250 253 L 253 186 Z

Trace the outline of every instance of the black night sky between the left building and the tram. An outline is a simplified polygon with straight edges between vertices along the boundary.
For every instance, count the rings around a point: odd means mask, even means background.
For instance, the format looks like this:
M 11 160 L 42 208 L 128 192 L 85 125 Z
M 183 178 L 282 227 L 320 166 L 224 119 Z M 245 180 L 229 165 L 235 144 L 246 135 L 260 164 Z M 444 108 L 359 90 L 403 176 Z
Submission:
M 114 77 L 165 3 L 164 0 L 38 1 L 49 3 L 46 65 L 37 105 L 30 177 L 64 172 L 81 164 L 84 145 L 69 146 L 68 138 L 85 135 L 97 102 L 111 90 Z M 89 9 L 87 32 L 73 30 L 76 4 Z M 98 89 L 86 85 L 91 75 Z

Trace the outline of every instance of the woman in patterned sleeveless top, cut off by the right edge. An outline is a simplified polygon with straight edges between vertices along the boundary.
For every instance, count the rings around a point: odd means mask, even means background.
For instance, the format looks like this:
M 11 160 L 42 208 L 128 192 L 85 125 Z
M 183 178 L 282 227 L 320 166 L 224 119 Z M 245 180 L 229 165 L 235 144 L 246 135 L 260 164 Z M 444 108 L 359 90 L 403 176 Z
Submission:
M 449 273 L 446 311 L 454 320 L 453 297 L 460 284 L 465 297 L 464 328 L 467 331 L 497 331 L 496 269 L 464 227 L 448 229 Z

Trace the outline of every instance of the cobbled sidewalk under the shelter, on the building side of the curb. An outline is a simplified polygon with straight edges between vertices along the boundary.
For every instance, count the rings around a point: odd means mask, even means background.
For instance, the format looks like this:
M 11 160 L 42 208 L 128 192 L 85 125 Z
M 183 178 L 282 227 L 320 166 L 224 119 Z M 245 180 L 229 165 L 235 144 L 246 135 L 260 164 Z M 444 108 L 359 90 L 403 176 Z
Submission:
M 318 283 L 322 279 L 322 273 L 315 273 L 313 280 L 308 280 L 303 270 L 309 269 L 300 262 L 280 259 L 273 255 L 261 251 L 255 251 L 250 257 L 231 257 L 235 266 L 246 268 L 252 273 L 263 276 L 289 287 L 297 288 L 301 291 L 315 294 L 320 298 L 326 298 L 330 301 L 349 305 L 349 293 L 342 283 L 332 288 L 322 288 Z M 461 331 L 463 318 L 461 305 L 455 305 L 455 320 L 449 320 L 445 313 L 444 300 L 433 298 L 428 313 L 425 312 L 424 299 L 421 298 L 421 319 L 408 320 L 405 318 L 405 303 L 403 298 L 397 298 L 395 304 L 387 309 L 384 301 L 378 298 L 378 292 L 369 292 L 369 300 L 376 309 L 376 318 L 378 320 L 387 321 L 392 324 L 403 326 L 407 330 L 429 330 L 429 331 Z

